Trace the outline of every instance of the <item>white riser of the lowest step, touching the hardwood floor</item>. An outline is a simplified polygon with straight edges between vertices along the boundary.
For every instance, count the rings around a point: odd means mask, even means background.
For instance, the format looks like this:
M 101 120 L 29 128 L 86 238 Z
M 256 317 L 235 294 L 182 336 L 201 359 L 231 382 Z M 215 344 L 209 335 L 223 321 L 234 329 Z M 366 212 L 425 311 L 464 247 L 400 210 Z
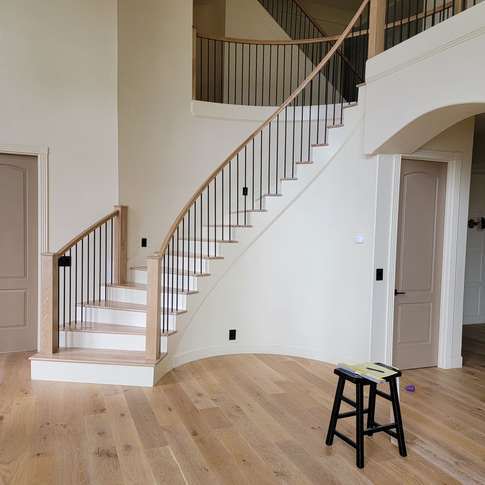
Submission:
M 158 364 L 157 367 L 161 364 Z M 152 387 L 160 379 L 159 373 L 160 371 L 157 372 L 156 367 L 148 366 L 31 361 L 31 378 L 41 381 Z

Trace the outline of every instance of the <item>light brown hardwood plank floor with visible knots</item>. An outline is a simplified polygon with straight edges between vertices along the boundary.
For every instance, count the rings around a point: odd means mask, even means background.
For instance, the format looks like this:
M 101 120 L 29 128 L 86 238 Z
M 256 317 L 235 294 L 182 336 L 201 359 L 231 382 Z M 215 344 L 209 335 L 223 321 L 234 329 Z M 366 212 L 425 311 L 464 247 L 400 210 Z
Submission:
M 408 456 L 383 433 L 366 437 L 361 470 L 339 438 L 324 443 L 329 364 L 211 357 L 138 388 L 31 381 L 32 353 L 0 354 L 0 483 L 484 484 L 485 325 L 463 336 L 463 369 L 403 372 Z M 386 421 L 388 404 L 376 415 Z M 350 436 L 353 425 L 339 421 Z

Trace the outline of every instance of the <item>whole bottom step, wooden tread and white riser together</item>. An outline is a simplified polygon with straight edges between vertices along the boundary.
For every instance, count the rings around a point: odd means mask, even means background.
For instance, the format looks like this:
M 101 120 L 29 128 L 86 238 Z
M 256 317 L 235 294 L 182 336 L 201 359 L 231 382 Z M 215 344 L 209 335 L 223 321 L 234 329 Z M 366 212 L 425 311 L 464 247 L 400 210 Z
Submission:
M 124 386 L 154 386 L 162 377 L 160 359 L 145 352 L 66 347 L 53 355 L 30 357 L 31 377 L 41 381 L 89 382 Z

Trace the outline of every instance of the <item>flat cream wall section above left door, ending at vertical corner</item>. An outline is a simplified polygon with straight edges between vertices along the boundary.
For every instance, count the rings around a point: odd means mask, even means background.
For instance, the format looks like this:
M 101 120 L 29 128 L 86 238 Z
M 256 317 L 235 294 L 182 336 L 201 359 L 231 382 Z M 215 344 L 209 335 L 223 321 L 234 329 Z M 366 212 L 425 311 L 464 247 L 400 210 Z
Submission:
M 118 202 L 116 44 L 115 0 L 0 0 L 0 143 L 49 147 L 51 251 Z

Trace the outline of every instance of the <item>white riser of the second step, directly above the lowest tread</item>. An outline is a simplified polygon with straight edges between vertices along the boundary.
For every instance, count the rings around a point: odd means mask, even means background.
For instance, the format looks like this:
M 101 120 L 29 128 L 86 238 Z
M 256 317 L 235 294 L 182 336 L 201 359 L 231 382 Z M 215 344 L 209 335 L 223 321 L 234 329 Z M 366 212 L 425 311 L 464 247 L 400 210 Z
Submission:
M 145 335 L 113 334 L 102 332 L 59 332 L 60 347 L 87 349 L 140 350 L 145 351 Z M 160 351 L 167 351 L 167 337 L 160 337 Z

